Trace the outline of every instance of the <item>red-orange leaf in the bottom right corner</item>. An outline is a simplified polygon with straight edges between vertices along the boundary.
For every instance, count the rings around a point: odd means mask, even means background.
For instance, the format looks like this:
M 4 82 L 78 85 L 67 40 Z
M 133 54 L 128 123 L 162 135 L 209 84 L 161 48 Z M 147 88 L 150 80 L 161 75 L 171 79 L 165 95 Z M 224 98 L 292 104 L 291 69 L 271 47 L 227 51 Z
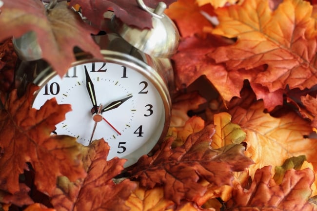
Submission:
M 226 210 L 313 211 L 313 204 L 308 202 L 313 181 L 311 169 L 291 169 L 277 185 L 272 179 L 271 167 L 266 166 L 257 170 L 250 189 L 238 186 L 233 190 Z

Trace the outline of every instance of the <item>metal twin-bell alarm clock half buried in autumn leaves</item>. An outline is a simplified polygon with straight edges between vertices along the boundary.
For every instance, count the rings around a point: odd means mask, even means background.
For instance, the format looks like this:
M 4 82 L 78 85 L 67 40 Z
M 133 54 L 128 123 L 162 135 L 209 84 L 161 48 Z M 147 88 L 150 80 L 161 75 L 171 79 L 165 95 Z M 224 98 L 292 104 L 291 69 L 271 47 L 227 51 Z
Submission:
M 52 133 L 74 136 L 83 145 L 103 138 L 110 146 L 108 159 L 125 158 L 125 166 L 149 153 L 167 133 L 174 83 L 169 57 L 179 39 L 176 26 L 163 13 L 165 3 L 151 9 L 137 2 L 152 15 L 153 28 L 130 28 L 111 15 L 107 24 L 113 32 L 93 36 L 104 60 L 79 51 L 64 77 L 41 59 L 34 33 L 14 39 L 22 60 L 16 70 L 20 90 L 29 83 L 40 86 L 33 107 L 39 109 L 52 97 L 72 107 Z M 33 72 L 26 73 L 26 68 Z

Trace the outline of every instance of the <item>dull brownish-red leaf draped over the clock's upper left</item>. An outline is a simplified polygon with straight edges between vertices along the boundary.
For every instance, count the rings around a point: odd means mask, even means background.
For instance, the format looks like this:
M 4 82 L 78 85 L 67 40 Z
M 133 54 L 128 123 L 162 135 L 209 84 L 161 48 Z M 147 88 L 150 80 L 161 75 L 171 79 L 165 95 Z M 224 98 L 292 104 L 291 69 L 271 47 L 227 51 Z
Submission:
M 66 2 L 59 2 L 53 9 L 46 11 L 40 0 L 3 0 L 0 41 L 10 37 L 19 38 L 30 31 L 36 33 L 42 58 L 60 76 L 76 60 L 73 52 L 76 46 L 96 58 L 103 58 L 99 46 L 91 38 L 91 34 L 97 34 L 98 30 L 84 23 L 78 14 L 68 8 Z

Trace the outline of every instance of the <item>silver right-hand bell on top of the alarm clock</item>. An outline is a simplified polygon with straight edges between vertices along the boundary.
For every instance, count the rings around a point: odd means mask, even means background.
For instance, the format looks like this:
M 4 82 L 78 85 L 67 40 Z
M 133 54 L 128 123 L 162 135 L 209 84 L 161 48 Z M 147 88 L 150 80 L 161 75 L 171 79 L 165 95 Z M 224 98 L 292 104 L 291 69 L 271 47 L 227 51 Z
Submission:
M 151 29 L 130 27 L 118 18 L 112 19 L 112 27 L 123 39 L 140 51 L 159 58 L 170 58 L 178 48 L 179 33 L 171 19 L 165 14 L 166 4 L 159 2 L 155 9 L 147 7 L 142 0 L 139 6 L 152 15 Z

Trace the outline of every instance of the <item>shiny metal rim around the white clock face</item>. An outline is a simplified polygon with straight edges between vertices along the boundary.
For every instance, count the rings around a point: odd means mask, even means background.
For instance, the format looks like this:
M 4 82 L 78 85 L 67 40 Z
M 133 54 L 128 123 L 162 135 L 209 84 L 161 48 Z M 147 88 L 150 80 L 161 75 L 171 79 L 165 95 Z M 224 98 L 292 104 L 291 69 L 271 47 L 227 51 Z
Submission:
M 160 124 L 164 124 L 162 131 L 159 133 L 156 131 L 155 133 L 151 134 L 152 140 L 147 140 L 142 147 L 140 147 L 137 151 L 134 151 L 130 154 L 127 154 L 125 156 L 122 156 L 120 158 L 127 159 L 124 167 L 128 167 L 135 162 L 138 161 L 139 157 L 141 157 L 143 154 L 147 154 L 151 152 L 151 150 L 155 147 L 155 145 L 162 140 L 165 135 L 167 134 L 169 124 L 170 124 L 170 117 L 171 117 L 171 97 L 168 90 L 168 81 L 166 81 L 166 77 L 170 76 L 171 74 L 168 73 L 168 71 L 172 71 L 172 69 L 168 70 L 157 70 L 159 67 L 156 65 L 157 62 L 155 62 L 151 57 L 143 54 L 141 55 L 141 58 L 143 58 L 143 61 L 139 60 L 139 58 L 135 58 L 131 55 L 127 55 L 125 53 L 120 53 L 117 51 L 112 50 L 100 50 L 100 53 L 103 55 L 104 60 L 91 58 L 89 54 L 86 54 L 84 52 L 80 52 L 76 54 L 77 61 L 72 63 L 72 66 L 77 66 L 83 63 L 91 63 L 91 62 L 111 62 L 116 63 L 119 65 L 124 65 L 126 67 L 132 68 L 145 76 L 149 82 L 151 82 L 154 87 L 157 89 L 162 102 L 163 107 L 165 111 L 164 118 L 161 118 Z M 164 71 L 167 71 L 166 74 L 164 74 Z M 33 83 L 40 86 L 40 89 L 52 78 L 55 77 L 57 73 L 51 68 L 51 66 L 48 66 L 43 71 L 40 72 L 40 74 L 35 77 L 33 80 Z M 163 75 L 163 76 L 162 76 Z M 164 77 L 166 75 L 166 77 Z M 39 89 L 39 90 L 40 90 Z M 37 95 L 37 92 L 35 93 Z M 153 137 L 159 137 L 158 139 L 154 139 Z

